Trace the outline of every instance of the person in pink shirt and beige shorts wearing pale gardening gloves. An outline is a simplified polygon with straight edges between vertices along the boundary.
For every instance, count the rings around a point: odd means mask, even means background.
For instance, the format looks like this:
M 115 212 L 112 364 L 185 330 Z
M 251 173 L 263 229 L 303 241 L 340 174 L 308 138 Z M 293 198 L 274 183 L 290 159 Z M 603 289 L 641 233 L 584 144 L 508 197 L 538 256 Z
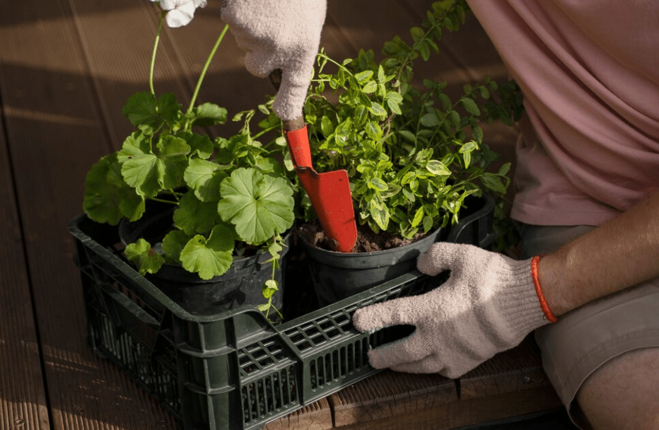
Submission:
M 433 245 L 419 269 L 450 269 L 441 289 L 355 313 L 362 331 L 416 325 L 371 364 L 455 378 L 535 330 L 578 426 L 659 429 L 659 2 L 467 2 L 525 95 L 511 216 L 527 260 Z M 284 71 L 283 120 L 302 115 L 325 8 L 224 1 L 247 69 Z

